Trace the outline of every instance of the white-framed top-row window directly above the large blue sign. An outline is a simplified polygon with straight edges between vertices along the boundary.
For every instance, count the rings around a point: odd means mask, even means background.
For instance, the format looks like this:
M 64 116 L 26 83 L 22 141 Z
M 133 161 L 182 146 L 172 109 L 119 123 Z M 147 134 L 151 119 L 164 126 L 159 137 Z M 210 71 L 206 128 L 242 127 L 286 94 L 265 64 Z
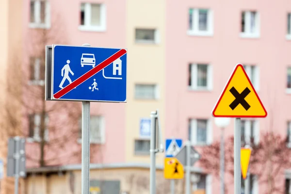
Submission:
M 106 7 L 104 4 L 81 3 L 80 30 L 105 31 Z

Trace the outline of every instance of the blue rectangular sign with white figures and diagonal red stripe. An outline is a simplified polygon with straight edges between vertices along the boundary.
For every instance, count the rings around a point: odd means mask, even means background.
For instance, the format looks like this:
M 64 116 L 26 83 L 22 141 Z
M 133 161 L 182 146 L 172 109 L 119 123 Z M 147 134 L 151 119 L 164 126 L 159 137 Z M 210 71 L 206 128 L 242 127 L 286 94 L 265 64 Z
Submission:
M 127 49 L 52 45 L 51 99 L 126 102 Z

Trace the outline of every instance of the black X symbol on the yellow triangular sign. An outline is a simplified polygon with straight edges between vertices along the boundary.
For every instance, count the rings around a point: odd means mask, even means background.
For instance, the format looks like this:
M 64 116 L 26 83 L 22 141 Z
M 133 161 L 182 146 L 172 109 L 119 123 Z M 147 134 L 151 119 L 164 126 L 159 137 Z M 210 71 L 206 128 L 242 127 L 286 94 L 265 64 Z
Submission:
M 241 104 L 246 111 L 251 107 L 244 99 L 251 92 L 248 87 L 246 87 L 241 94 L 234 87 L 232 87 L 229 92 L 235 97 L 235 100 L 229 105 L 232 110 L 239 104 Z

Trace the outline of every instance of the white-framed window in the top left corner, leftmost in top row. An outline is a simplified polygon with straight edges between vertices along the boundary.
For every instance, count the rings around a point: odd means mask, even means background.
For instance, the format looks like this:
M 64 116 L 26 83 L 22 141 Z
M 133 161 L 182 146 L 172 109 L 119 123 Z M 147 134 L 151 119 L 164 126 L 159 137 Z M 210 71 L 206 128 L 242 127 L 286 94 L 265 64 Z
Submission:
M 49 28 L 50 13 L 48 0 L 30 1 L 30 27 Z

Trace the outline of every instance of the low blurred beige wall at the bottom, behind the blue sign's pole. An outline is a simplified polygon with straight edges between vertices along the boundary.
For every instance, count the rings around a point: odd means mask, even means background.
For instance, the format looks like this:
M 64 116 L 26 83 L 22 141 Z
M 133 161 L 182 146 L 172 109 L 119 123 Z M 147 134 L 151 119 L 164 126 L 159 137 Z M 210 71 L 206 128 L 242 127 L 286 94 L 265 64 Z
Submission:
M 70 173 L 63 176 L 45 175 L 30 176 L 27 178 L 26 194 L 81 194 L 81 170 L 72 171 L 74 175 L 74 193 L 69 187 Z M 103 169 L 91 170 L 90 179 L 119 180 L 121 192 L 129 194 L 148 194 L 149 169 Z M 163 171 L 157 170 L 157 194 L 169 194 L 169 180 L 163 178 Z M 176 180 L 176 193 L 183 190 L 183 179 Z M 105 188 L 106 189 L 106 188 Z M 45 193 L 45 190 L 48 193 Z M 105 193 L 106 194 L 106 193 Z

